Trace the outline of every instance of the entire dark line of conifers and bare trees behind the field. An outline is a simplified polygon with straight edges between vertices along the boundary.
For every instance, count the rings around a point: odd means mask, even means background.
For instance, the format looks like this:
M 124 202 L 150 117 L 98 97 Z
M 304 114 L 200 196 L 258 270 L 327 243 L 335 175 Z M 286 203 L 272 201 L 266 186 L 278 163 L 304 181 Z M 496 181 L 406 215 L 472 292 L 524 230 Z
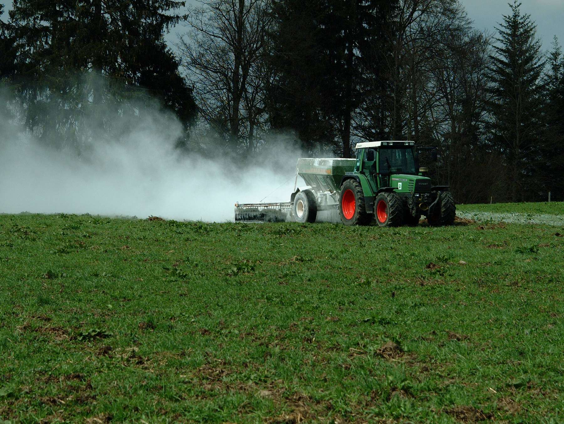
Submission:
M 4 115 L 78 150 L 155 104 L 185 125 L 187 150 L 249 157 L 291 134 L 349 157 L 360 141 L 408 139 L 438 148 L 431 173 L 459 202 L 564 199 L 564 58 L 556 37 L 543 52 L 517 1 L 493 34 L 458 0 L 181 6 L 14 1 L 0 22 Z

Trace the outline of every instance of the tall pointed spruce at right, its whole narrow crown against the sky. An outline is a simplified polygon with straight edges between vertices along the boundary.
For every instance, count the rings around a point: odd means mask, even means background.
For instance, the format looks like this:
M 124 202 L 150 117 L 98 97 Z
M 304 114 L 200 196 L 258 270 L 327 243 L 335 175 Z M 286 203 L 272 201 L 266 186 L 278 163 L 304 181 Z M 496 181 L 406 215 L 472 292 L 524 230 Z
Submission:
M 522 14 L 516 0 L 509 6 L 511 14 L 503 16 L 490 56 L 489 107 L 492 140 L 508 160 L 511 199 L 517 202 L 533 188 L 526 179 L 539 160 L 545 60 L 530 15 Z

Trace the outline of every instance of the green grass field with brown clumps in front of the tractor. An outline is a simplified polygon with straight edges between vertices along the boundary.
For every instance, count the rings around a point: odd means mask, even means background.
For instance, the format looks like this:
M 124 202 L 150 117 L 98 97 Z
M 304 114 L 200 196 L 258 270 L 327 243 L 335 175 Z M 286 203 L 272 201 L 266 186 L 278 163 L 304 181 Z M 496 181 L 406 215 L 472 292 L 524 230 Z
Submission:
M 563 233 L 0 215 L 0 422 L 563 422 Z

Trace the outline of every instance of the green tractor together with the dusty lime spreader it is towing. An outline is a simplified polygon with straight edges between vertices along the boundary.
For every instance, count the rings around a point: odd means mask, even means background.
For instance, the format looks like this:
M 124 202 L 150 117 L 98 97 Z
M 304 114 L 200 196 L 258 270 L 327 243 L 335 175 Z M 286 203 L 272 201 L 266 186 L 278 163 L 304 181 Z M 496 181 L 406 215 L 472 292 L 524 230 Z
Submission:
M 356 159 L 298 159 L 297 175 L 307 185 L 294 189 L 290 202 L 236 204 L 235 220 L 314 222 L 319 211 L 337 209 L 346 225 L 375 218 L 380 226 L 413 226 L 421 216 L 430 225 L 451 225 L 456 206 L 448 186 L 431 185 L 424 173 L 412 141 L 358 143 Z

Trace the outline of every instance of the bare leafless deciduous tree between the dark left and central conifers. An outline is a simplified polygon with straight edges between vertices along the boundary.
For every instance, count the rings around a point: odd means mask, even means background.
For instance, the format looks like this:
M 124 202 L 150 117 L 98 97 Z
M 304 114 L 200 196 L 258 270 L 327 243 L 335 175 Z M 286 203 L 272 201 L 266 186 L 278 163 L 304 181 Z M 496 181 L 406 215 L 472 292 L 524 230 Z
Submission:
M 269 24 L 266 0 L 201 0 L 179 43 L 201 117 L 233 148 L 252 150 L 261 115 L 261 85 Z

